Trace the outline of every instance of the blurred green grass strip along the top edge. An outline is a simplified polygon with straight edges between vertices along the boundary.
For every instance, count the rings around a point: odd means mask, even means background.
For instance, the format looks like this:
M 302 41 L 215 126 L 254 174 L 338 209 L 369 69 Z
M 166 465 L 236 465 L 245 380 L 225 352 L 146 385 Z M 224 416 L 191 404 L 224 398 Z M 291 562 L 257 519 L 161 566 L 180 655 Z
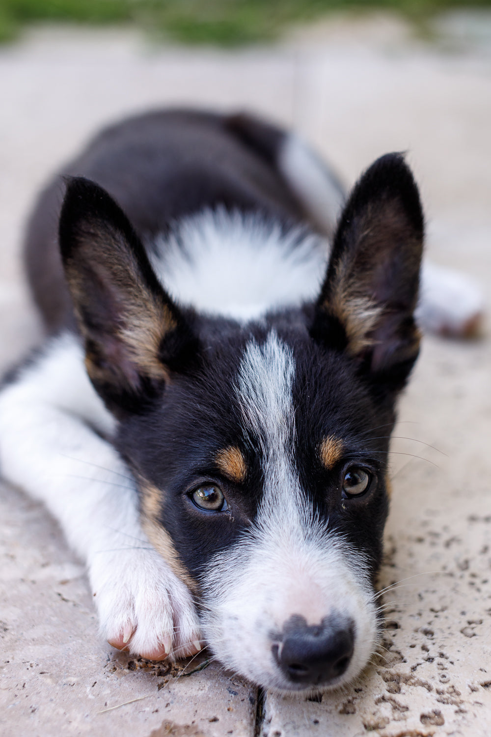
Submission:
M 421 24 L 456 7 L 491 7 L 491 0 L 0 0 L 0 41 L 27 23 L 63 21 L 136 24 L 183 43 L 239 46 L 332 10 L 396 10 Z

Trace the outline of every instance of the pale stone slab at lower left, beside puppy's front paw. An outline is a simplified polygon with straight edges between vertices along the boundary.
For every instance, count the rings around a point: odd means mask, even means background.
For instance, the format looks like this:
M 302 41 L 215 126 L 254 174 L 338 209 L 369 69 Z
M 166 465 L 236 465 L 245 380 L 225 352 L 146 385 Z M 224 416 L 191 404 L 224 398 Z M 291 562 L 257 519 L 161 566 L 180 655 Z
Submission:
M 56 523 L 0 490 L 1 735 L 252 737 L 256 690 L 207 666 L 130 657 L 102 642 L 84 567 Z M 205 666 L 205 667 L 203 667 Z

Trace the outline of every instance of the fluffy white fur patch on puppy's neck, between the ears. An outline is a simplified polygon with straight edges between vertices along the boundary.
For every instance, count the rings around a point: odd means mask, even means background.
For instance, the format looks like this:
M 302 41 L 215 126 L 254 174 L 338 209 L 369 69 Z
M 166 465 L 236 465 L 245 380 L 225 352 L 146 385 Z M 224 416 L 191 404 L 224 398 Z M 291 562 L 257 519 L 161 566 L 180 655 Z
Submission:
M 314 299 L 328 243 L 305 228 L 283 232 L 261 214 L 218 207 L 176 223 L 149 256 L 163 287 L 181 304 L 246 322 Z

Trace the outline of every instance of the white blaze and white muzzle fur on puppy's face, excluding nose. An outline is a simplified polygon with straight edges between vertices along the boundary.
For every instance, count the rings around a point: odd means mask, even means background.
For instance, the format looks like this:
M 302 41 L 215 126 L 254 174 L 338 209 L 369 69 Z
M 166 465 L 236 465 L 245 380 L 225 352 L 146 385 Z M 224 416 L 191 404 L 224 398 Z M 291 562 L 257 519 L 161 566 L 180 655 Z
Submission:
M 291 349 L 274 331 L 244 352 L 236 392 L 246 430 L 258 439 L 264 490 L 254 524 L 208 566 L 205 637 L 225 666 L 267 688 L 313 688 L 283 675 L 272 646 L 293 615 L 308 625 L 339 615 L 355 623 L 350 666 L 331 685 L 355 677 L 373 652 L 377 621 L 367 569 L 320 520 L 294 468 Z

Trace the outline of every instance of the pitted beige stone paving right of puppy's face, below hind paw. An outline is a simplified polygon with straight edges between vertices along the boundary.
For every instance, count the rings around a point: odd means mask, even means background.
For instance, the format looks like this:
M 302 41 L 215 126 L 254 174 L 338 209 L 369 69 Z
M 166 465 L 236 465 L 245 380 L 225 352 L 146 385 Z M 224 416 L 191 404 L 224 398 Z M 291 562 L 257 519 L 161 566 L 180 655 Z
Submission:
M 393 446 L 437 465 L 395 454 L 381 587 L 400 584 L 384 595 L 381 654 L 321 703 L 269 696 L 265 737 L 490 735 L 490 364 L 484 344 L 427 340 L 395 435 L 441 453 Z

